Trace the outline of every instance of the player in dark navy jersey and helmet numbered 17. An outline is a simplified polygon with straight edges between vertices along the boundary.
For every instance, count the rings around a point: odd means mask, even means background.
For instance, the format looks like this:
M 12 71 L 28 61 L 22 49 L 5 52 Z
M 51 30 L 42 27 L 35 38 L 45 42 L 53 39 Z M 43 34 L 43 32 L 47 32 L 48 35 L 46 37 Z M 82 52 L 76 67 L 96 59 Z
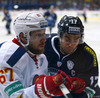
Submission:
M 83 92 L 71 92 L 73 98 L 100 98 L 97 57 L 94 50 L 83 41 L 83 36 L 84 26 L 79 17 L 65 15 L 58 23 L 58 35 L 46 41 L 45 55 L 49 71 L 54 74 L 60 69 L 70 77 L 85 81 Z

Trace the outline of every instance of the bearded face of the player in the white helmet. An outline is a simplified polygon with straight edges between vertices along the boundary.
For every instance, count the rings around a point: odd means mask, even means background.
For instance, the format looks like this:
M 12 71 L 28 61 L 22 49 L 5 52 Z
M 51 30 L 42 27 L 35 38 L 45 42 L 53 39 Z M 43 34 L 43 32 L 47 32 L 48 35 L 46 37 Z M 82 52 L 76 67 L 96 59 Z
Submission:
M 37 30 L 30 32 L 29 50 L 34 54 L 41 54 L 44 52 L 45 46 L 45 30 Z

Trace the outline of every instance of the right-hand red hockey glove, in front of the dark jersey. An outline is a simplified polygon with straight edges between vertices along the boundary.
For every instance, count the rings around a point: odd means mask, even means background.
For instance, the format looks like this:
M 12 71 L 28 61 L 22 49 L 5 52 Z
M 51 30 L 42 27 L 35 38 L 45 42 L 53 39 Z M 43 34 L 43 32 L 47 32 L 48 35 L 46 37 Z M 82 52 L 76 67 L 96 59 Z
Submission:
M 73 93 L 81 93 L 85 89 L 85 82 L 83 79 L 72 77 L 70 78 L 72 81 L 72 92 Z

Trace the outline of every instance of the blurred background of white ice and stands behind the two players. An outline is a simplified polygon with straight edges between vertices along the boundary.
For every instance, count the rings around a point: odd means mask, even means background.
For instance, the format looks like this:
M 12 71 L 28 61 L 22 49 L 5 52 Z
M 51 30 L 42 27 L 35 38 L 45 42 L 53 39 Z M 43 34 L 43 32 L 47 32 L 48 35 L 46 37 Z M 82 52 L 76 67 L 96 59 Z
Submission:
M 100 66 L 100 0 L 0 0 L 0 43 L 15 37 L 12 23 L 17 15 L 28 11 L 44 15 L 50 8 L 57 16 L 51 33 L 57 33 L 57 23 L 65 14 L 81 18 L 85 27 L 84 40 L 95 50 Z M 49 28 L 46 33 L 50 34 Z

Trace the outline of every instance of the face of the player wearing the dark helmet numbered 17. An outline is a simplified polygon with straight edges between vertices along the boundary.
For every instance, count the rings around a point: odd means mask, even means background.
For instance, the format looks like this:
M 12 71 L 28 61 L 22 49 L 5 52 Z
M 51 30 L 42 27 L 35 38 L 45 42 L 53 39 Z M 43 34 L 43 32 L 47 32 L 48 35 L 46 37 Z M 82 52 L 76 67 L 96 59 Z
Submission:
M 79 44 L 81 35 L 63 34 L 60 38 L 60 51 L 63 54 L 72 53 Z

